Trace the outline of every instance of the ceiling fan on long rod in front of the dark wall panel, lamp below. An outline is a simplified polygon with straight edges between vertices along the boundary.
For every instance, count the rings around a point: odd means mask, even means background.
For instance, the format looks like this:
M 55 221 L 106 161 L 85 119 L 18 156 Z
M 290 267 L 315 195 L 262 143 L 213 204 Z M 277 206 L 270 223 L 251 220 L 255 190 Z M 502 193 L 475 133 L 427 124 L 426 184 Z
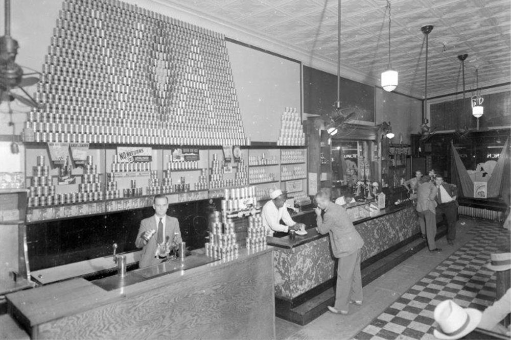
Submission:
M 357 108 L 341 108 L 340 91 L 340 71 L 341 71 L 341 0 L 337 3 L 337 101 L 332 105 L 334 110 L 328 114 L 330 123 L 327 125 L 327 132 L 335 135 L 338 128 L 342 128 L 349 120 L 353 119 L 357 113 Z

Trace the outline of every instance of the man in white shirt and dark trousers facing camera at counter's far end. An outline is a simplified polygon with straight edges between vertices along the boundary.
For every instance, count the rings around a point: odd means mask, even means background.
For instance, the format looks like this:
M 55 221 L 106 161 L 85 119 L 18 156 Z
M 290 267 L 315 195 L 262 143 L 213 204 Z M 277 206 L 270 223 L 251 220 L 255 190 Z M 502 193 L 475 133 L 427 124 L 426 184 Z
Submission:
M 458 188 L 454 184 L 444 182 L 442 175 L 436 175 L 435 185 L 438 189 L 436 194 L 436 202 L 438 210 L 445 215 L 447 222 L 447 243 L 454 245 L 456 238 L 456 220 L 458 217 Z

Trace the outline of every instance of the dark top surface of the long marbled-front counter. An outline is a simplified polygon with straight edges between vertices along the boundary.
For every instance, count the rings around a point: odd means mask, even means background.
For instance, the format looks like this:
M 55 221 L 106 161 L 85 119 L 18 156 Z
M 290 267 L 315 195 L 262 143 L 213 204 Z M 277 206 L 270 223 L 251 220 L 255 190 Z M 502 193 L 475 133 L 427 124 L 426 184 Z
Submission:
M 382 216 L 386 216 L 398 211 L 401 211 L 406 208 L 413 208 L 410 204 L 402 204 L 402 205 L 394 205 L 386 209 L 382 209 L 378 211 L 377 214 L 374 214 L 373 216 L 361 218 L 360 220 L 357 220 L 353 222 L 353 224 L 356 226 L 357 224 L 361 224 L 370 220 L 374 220 L 375 218 L 379 218 Z M 310 211 L 310 213 L 314 213 L 314 211 Z M 273 237 L 273 236 L 267 236 L 266 242 L 269 246 L 275 246 L 280 248 L 288 248 L 292 249 L 301 245 L 304 245 L 308 242 L 312 242 L 316 239 L 319 239 L 321 237 L 326 237 L 328 234 L 321 235 L 317 229 L 316 226 L 308 226 L 307 227 L 307 235 L 299 236 L 295 235 L 294 239 L 290 239 L 290 236 L 284 236 L 284 237 Z

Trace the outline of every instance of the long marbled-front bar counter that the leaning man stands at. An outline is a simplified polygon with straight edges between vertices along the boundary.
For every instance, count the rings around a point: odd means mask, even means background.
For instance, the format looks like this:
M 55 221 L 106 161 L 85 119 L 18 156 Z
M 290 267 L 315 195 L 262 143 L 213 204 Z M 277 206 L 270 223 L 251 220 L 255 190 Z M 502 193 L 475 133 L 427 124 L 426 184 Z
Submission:
M 377 258 L 393 246 L 412 240 L 420 233 L 419 221 L 411 202 L 386 209 L 370 208 L 367 202 L 356 203 L 346 209 L 355 228 L 364 239 L 363 261 Z M 314 211 L 294 215 L 296 222 L 307 225 L 307 235 L 281 238 L 267 237 L 268 245 L 274 246 L 273 263 L 275 279 L 276 315 L 291 322 L 304 325 L 324 311 L 317 311 L 311 318 L 293 309 L 335 286 L 336 260 L 332 256 L 328 234 L 316 230 Z M 390 249 L 390 250 L 389 250 Z

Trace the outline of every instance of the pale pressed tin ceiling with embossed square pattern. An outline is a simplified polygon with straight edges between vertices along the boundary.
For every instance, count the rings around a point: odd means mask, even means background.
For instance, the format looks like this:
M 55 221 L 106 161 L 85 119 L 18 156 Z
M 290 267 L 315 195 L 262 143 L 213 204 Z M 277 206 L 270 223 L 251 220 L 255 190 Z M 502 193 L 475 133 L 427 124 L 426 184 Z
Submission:
M 336 72 L 337 0 L 156 1 L 299 52 L 305 65 L 327 62 L 328 70 Z M 376 84 L 388 61 L 386 1 L 342 0 L 341 11 L 341 63 L 363 75 L 364 82 Z M 424 96 L 424 25 L 434 25 L 429 34 L 428 98 L 462 90 L 457 55 L 463 53 L 469 54 L 467 90 L 476 86 L 476 67 L 479 86 L 509 82 L 510 17 L 509 0 L 392 0 L 391 63 L 399 71 L 396 91 Z

